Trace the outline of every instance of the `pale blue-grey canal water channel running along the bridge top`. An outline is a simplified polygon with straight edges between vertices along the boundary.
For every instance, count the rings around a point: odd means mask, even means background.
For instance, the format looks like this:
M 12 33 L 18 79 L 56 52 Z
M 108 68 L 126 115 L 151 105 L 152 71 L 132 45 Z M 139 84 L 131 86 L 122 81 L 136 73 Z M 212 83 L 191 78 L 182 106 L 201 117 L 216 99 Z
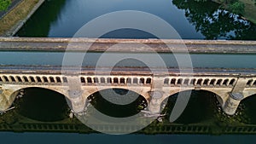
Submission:
M 49 65 L 49 66 L 61 66 L 63 62 L 64 53 L 58 52 L 1 52 L 0 53 L 0 65 Z M 112 66 L 112 61 L 115 63 L 116 59 L 120 55 L 123 55 L 127 59 L 122 60 L 119 66 L 145 66 L 138 60 L 128 59 L 129 57 L 135 58 L 148 58 L 143 59 L 144 62 L 149 62 L 150 66 L 159 66 L 159 62 L 154 60 L 155 55 L 150 54 L 117 54 L 108 53 L 104 56 L 108 57 L 103 63 L 100 63 L 101 53 L 89 53 L 89 54 L 78 54 L 73 53 L 73 60 L 75 61 L 77 57 L 83 57 L 82 66 Z M 177 57 L 183 57 L 184 55 L 178 54 Z M 29 57 L 29 60 L 27 60 Z M 150 59 L 152 58 L 152 59 Z M 177 67 L 177 60 L 174 55 L 170 54 L 160 54 L 160 59 L 165 62 L 166 66 Z M 180 66 L 189 66 L 191 64 L 193 67 L 212 67 L 212 68 L 256 68 L 256 56 L 255 55 L 199 55 L 192 54 L 189 58 L 180 61 Z M 236 62 L 235 62 L 236 61 Z M 73 65 L 73 62 L 70 65 Z M 100 63 L 100 64 L 99 64 Z M 79 64 L 76 66 L 80 66 Z

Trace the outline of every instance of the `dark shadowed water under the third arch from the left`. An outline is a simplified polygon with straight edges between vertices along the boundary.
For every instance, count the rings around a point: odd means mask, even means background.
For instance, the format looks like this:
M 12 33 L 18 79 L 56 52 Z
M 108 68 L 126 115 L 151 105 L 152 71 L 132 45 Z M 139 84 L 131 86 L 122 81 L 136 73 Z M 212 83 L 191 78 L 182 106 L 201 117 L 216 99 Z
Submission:
M 188 91 L 183 91 L 181 95 L 185 95 Z M 167 98 L 167 104 L 162 113 L 166 113 L 166 119 L 169 119 L 173 107 L 180 94 L 170 95 Z M 187 95 L 189 96 L 189 95 Z M 182 114 L 173 122 L 177 124 L 197 124 L 213 119 L 214 107 L 217 105 L 217 98 L 212 92 L 204 90 L 192 90 L 189 103 L 185 107 Z

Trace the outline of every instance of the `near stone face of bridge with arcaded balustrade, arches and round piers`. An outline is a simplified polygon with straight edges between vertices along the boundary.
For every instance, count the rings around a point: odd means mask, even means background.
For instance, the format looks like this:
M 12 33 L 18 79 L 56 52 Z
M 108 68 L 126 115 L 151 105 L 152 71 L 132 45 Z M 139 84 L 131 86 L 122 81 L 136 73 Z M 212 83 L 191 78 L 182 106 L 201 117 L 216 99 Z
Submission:
M 0 108 L 8 109 L 20 89 L 44 88 L 65 95 L 74 112 L 83 112 L 88 97 L 102 89 L 128 89 L 142 95 L 148 102 L 148 111 L 159 114 L 163 101 L 185 90 L 207 90 L 218 95 L 218 102 L 227 114 L 234 114 L 240 101 L 256 94 L 254 69 L 194 69 L 181 74 L 175 68 L 158 73 L 143 67 L 83 67 L 75 71 L 61 72 L 61 67 L 1 66 Z M 111 73 L 109 73 L 111 71 Z M 49 100 L 50 101 L 50 100 Z

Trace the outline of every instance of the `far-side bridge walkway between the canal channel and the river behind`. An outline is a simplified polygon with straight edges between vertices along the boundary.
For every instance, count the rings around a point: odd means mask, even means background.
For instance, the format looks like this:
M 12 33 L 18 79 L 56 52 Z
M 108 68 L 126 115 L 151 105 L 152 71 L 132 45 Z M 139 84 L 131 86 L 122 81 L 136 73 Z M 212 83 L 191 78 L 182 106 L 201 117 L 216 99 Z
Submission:
M 113 44 L 120 45 L 108 49 Z M 148 47 L 143 47 L 142 44 Z M 184 52 L 186 46 L 189 53 L 202 54 L 256 54 L 256 41 L 225 41 L 225 40 L 178 40 L 178 39 L 93 39 L 93 38 L 47 38 L 47 37 L 0 37 L 0 51 L 84 51 L 84 44 L 92 44 L 91 52 Z M 169 47 L 166 47 L 168 45 Z M 125 49 L 124 49 L 125 47 Z

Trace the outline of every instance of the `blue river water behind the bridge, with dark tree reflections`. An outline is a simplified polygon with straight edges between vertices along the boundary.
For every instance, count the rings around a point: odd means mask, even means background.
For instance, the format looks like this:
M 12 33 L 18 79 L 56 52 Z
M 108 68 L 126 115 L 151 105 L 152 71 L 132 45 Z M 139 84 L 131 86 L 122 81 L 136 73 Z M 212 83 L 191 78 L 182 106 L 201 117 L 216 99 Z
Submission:
M 256 39 L 253 23 L 219 9 L 217 3 L 185 0 L 50 0 L 32 15 L 16 36 L 73 37 L 90 20 L 120 10 L 154 14 L 166 20 L 184 39 Z M 84 33 L 84 37 L 93 35 Z M 155 38 L 148 32 L 129 28 L 108 32 L 102 37 Z

